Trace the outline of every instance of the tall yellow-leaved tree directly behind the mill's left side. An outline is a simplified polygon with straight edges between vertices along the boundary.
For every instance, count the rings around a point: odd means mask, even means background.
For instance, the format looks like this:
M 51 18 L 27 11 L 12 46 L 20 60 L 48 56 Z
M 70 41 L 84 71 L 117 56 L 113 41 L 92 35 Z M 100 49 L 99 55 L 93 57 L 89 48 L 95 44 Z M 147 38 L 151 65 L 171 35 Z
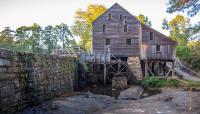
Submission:
M 92 22 L 103 14 L 106 8 L 103 5 L 91 4 L 86 11 L 78 10 L 76 12 L 76 21 L 72 26 L 74 35 L 80 37 L 79 45 L 86 51 L 92 47 Z

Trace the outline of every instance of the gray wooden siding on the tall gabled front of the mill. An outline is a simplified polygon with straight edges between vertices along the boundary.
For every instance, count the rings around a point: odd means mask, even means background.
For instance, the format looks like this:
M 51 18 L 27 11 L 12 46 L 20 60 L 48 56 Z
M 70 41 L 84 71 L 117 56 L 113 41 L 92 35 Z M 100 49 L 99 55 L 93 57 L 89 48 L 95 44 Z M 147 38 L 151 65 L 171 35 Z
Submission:
M 109 20 L 109 14 L 112 19 Z M 123 19 L 120 19 L 123 14 Z M 124 32 L 124 24 L 127 22 L 128 32 Z M 103 32 L 103 24 L 106 25 Z M 110 39 L 110 52 L 114 56 L 139 56 L 140 55 L 140 23 L 125 9 L 115 4 L 101 17 L 93 22 L 93 51 L 105 50 L 105 41 Z M 131 45 L 126 45 L 126 39 L 131 39 Z

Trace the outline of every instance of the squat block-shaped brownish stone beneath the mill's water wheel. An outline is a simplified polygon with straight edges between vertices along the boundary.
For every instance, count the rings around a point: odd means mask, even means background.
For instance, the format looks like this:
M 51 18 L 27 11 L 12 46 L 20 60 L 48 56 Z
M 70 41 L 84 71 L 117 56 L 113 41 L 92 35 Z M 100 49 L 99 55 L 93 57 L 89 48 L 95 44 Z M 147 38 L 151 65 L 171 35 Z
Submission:
M 120 89 L 127 87 L 127 79 L 125 77 L 113 77 L 112 88 Z

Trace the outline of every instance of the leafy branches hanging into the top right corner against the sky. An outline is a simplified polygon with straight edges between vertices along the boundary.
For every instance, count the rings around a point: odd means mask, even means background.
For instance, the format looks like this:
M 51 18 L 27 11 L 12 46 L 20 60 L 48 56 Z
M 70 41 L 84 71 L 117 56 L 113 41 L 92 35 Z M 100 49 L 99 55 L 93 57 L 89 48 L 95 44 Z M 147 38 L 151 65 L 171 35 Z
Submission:
M 200 10 L 199 0 L 169 0 L 167 12 L 187 11 L 189 16 L 195 16 Z

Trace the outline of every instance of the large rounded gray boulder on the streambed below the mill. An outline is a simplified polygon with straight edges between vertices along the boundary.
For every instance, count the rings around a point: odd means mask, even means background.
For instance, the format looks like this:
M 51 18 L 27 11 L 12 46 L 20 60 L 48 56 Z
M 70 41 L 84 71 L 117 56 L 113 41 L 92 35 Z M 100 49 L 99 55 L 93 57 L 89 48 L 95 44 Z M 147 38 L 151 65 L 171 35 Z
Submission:
M 141 98 L 143 91 L 144 91 L 143 88 L 140 86 L 131 87 L 120 92 L 118 99 L 119 100 L 137 100 Z

